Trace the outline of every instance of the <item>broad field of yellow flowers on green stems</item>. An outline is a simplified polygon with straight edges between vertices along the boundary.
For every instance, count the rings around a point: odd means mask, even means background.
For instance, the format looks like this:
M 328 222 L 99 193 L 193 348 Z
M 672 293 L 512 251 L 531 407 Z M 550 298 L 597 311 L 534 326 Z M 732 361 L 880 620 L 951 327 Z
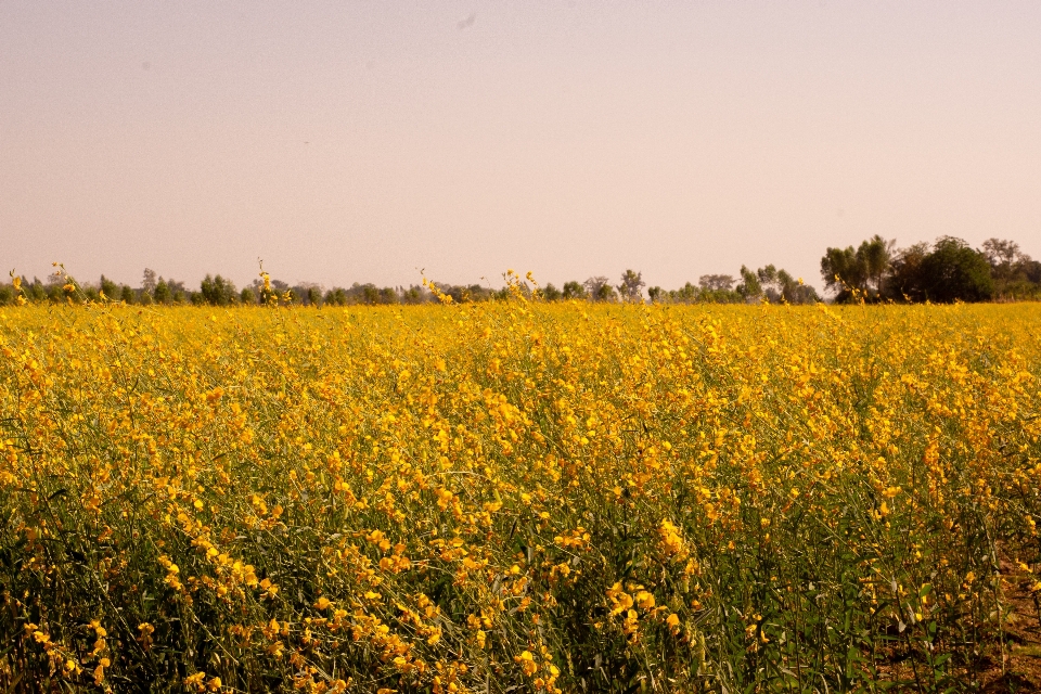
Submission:
M 1039 305 L 0 311 L 0 687 L 968 691 L 1037 620 Z

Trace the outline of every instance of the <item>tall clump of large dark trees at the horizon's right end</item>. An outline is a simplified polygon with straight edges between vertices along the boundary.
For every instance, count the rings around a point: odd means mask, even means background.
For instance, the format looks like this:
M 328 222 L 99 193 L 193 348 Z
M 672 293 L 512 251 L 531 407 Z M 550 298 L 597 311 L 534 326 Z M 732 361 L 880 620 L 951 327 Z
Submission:
M 941 236 L 934 243 L 895 248 L 874 236 L 852 246 L 828 248 L 821 275 L 839 303 L 986 301 L 1041 296 L 1041 264 L 1011 241 L 989 239 L 981 249 Z

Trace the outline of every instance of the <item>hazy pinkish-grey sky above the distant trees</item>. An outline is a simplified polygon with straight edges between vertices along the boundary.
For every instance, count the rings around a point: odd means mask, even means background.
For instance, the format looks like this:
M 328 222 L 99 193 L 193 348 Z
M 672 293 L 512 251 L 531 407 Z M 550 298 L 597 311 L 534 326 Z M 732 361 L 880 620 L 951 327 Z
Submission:
M 0 264 L 666 288 L 1041 258 L 1041 3 L 0 0 Z

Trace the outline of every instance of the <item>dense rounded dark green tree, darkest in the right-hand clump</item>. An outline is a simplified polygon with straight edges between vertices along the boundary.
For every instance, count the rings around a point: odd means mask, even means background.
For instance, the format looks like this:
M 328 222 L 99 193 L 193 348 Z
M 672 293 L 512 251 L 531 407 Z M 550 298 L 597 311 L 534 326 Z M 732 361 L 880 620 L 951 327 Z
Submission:
M 941 236 L 921 266 L 923 293 L 930 301 L 985 301 L 994 294 L 987 257 L 961 239 Z

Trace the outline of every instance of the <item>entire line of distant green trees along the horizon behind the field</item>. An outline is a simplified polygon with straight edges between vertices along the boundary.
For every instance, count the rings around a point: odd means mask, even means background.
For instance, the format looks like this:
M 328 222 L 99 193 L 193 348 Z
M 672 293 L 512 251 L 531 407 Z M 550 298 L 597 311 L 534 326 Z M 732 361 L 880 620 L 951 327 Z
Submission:
M 825 290 L 834 293 L 837 303 L 1041 299 L 1041 262 L 1023 253 L 1017 243 L 999 239 L 985 241 L 978 249 L 952 236 L 941 236 L 931 244 L 897 248 L 895 241 L 875 235 L 856 248 L 827 248 L 821 258 L 821 275 Z M 183 282 L 157 275 L 152 269 L 144 270 L 138 287 L 118 284 L 105 275 L 98 282 L 79 283 L 65 273 L 63 267 L 46 281 L 38 278 L 30 281 L 12 271 L 10 282 L 0 284 L 0 306 L 22 301 L 112 300 L 130 305 L 321 307 L 427 304 L 440 300 L 438 295 L 451 297 L 457 304 L 507 300 L 513 296 L 506 275 L 507 285 L 500 288 L 430 283 L 436 292 L 426 283 L 380 287 L 356 282 L 349 287 L 325 288 L 313 282 L 290 285 L 264 272 L 261 278 L 240 290 L 220 274 L 207 274 L 198 288 L 193 290 Z M 697 284 L 687 282 L 677 290 L 652 286 L 644 294 L 645 287 L 642 273 L 631 269 L 621 274 L 617 284 L 595 275 L 584 282 L 565 282 L 561 287 L 552 283 L 540 286 L 529 275 L 528 281 L 519 280 L 513 286 L 515 291 L 547 301 L 814 304 L 823 300 L 801 278 L 773 265 L 757 270 L 742 266 L 737 275 L 704 274 Z

